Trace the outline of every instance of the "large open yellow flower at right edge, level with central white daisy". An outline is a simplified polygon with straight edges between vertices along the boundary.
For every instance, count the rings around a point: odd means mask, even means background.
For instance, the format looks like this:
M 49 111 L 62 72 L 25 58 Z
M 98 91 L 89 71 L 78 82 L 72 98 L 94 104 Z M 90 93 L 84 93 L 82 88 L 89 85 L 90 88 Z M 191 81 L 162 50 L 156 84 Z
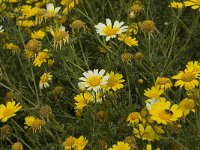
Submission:
M 172 77 L 172 79 L 178 80 L 176 81 L 174 86 L 180 86 L 180 88 L 184 86 L 186 90 L 192 90 L 196 86 L 198 86 L 199 85 L 199 81 L 197 80 L 198 78 L 199 74 L 197 74 L 194 71 L 190 71 L 188 69 L 180 71 L 177 75 Z

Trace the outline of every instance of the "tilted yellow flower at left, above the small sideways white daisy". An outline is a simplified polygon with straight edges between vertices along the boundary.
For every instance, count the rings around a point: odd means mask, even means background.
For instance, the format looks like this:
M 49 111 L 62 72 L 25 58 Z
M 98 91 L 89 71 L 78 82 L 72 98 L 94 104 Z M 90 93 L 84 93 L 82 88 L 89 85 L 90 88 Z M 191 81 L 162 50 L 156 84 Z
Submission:
M 47 62 L 49 58 L 48 49 L 45 49 L 43 52 L 39 52 L 37 57 L 35 58 L 33 65 L 36 67 L 40 67 L 43 62 Z

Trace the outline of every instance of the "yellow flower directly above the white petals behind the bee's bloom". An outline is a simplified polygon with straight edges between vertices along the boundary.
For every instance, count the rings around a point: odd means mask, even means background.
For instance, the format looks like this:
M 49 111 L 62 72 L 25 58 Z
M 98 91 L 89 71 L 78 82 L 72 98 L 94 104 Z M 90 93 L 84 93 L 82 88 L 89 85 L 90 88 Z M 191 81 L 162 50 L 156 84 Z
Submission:
M 146 102 L 148 102 L 150 99 L 153 99 L 153 98 L 159 99 L 160 95 L 162 95 L 163 92 L 164 92 L 163 89 L 158 89 L 156 87 L 152 87 L 151 89 L 144 90 L 144 95 L 149 98 L 148 100 L 146 100 Z

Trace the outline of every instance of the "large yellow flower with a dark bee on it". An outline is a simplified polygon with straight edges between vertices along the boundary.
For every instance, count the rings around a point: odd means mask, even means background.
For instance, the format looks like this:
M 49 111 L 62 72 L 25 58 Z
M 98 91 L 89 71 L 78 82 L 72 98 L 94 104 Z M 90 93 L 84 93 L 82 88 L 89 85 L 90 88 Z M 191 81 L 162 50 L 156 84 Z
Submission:
M 151 119 L 157 123 L 167 124 L 182 117 L 182 110 L 178 108 L 177 104 L 170 106 L 170 101 L 160 100 L 151 106 L 149 111 Z

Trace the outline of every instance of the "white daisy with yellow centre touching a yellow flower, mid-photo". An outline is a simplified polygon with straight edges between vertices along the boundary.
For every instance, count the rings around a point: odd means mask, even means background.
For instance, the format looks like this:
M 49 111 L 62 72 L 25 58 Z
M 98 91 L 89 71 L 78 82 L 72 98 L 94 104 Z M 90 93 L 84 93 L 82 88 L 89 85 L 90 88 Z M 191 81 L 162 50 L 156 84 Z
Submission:
M 84 83 L 87 90 L 93 90 L 97 92 L 99 89 L 101 89 L 102 86 L 104 86 L 107 83 L 107 80 L 109 78 L 109 75 L 105 75 L 105 70 L 102 69 L 100 72 L 98 69 L 94 69 L 94 71 L 87 71 L 84 72 L 84 77 L 79 78 L 81 80 L 80 83 Z

